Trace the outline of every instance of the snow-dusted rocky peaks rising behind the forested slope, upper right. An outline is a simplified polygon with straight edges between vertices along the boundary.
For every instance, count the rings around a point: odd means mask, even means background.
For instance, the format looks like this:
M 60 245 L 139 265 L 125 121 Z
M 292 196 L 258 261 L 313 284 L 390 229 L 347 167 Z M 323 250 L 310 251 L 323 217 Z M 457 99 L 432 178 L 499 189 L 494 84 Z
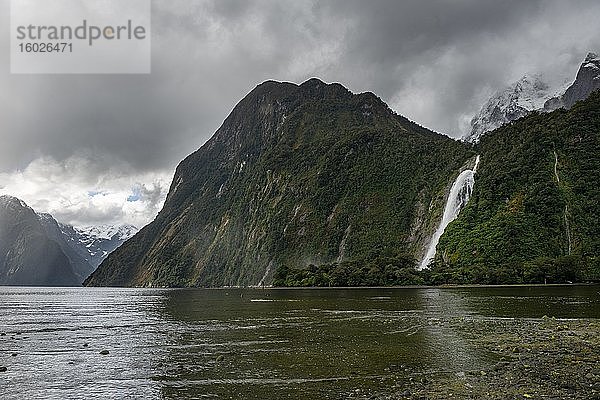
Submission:
M 589 53 L 579 67 L 575 81 L 566 89 L 552 89 L 538 74 L 524 76 L 492 96 L 471 120 L 471 131 L 465 136 L 476 143 L 485 132 L 492 131 L 532 111 L 549 112 L 570 108 L 600 88 L 600 58 Z M 558 93 L 558 94 L 556 94 Z

